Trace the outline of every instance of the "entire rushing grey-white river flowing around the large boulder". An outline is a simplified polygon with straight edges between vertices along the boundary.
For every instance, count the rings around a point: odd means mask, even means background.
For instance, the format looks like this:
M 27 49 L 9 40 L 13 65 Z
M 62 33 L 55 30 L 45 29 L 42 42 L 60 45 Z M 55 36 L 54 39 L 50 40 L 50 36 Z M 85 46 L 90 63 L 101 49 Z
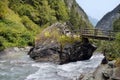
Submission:
M 76 80 L 82 73 L 93 72 L 103 56 L 64 65 L 34 62 L 26 52 L 0 56 L 0 80 Z

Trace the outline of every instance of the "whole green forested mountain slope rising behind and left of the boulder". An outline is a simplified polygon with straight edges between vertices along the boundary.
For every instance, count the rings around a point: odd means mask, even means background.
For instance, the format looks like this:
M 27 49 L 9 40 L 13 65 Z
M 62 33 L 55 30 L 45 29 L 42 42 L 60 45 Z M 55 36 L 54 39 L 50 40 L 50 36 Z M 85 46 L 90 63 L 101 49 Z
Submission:
M 35 36 L 56 22 L 91 27 L 75 0 L 0 0 L 0 49 L 34 45 Z

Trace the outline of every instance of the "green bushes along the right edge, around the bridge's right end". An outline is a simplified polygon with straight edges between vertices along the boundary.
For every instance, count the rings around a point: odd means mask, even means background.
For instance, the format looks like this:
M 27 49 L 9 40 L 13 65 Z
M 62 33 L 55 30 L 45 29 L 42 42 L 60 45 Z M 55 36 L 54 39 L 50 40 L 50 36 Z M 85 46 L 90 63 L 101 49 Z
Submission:
M 120 30 L 120 18 L 115 20 L 113 23 L 113 30 Z M 112 42 L 104 42 L 102 41 L 100 44 L 100 50 L 106 49 L 107 57 L 109 60 L 120 58 L 120 33 L 115 33 L 116 38 L 115 41 Z

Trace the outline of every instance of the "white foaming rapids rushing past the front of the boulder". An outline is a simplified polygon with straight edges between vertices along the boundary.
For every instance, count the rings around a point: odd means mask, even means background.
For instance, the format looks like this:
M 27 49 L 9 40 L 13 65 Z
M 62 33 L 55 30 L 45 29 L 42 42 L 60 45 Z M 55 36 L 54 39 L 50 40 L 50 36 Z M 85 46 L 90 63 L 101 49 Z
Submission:
M 90 60 L 72 62 L 64 65 L 35 63 L 39 70 L 25 80 L 75 80 L 81 73 L 93 71 L 101 62 L 103 55 L 96 54 Z

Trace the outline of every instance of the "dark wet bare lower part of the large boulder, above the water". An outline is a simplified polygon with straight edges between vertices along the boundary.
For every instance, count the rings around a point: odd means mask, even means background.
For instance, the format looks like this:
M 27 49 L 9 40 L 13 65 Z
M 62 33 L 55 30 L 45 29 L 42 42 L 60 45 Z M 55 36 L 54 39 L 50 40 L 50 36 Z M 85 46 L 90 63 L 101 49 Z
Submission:
M 31 48 L 28 54 L 37 61 L 60 62 L 63 64 L 90 59 L 95 49 L 96 47 L 90 43 L 81 44 L 77 42 L 72 45 L 66 45 L 62 51 L 59 46 L 51 44 L 50 47 Z

